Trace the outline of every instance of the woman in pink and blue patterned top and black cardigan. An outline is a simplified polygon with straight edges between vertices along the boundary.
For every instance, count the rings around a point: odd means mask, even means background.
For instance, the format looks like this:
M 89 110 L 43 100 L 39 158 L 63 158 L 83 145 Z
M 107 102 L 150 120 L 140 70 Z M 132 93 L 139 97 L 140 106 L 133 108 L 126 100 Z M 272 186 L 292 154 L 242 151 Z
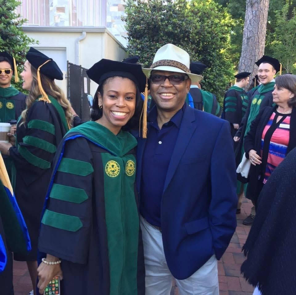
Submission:
M 251 161 L 246 196 L 254 204 L 273 170 L 296 147 L 296 75 L 275 78 L 274 107 L 265 107 L 245 137 L 246 157 Z

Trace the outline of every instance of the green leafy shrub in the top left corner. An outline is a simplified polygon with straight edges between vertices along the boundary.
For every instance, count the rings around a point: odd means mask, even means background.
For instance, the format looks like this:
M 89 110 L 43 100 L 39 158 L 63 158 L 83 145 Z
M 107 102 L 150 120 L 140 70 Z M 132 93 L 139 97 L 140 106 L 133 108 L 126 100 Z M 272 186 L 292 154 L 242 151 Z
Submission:
M 0 0 L 0 51 L 6 51 L 14 56 L 19 63 L 19 73 L 26 60 L 29 44 L 38 43 L 22 30 L 22 25 L 27 20 L 18 19 L 20 15 L 15 13 L 16 7 L 20 4 L 21 2 L 15 0 Z M 15 88 L 22 90 L 21 83 L 14 84 L 14 79 L 11 83 Z

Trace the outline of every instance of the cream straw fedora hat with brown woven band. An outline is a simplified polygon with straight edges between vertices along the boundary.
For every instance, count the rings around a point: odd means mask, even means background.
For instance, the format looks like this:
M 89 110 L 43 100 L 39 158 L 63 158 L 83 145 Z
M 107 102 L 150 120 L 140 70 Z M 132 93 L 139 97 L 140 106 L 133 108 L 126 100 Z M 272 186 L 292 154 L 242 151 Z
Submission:
M 166 44 L 160 47 L 155 53 L 150 69 L 142 68 L 142 71 L 148 78 L 150 77 L 151 71 L 157 70 L 185 73 L 189 76 L 192 83 L 201 81 L 203 77 L 200 75 L 192 74 L 189 70 L 189 67 L 189 54 L 178 46 L 175 46 L 173 44 Z

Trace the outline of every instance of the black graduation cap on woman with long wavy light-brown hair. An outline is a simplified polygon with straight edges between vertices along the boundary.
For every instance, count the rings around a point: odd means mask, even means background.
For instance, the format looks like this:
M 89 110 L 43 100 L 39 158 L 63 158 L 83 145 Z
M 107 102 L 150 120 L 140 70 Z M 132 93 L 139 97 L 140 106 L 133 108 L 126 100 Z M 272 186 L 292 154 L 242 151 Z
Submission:
M 42 52 L 30 47 L 26 58 L 37 71 L 39 69 L 39 71 L 49 79 L 63 80 L 63 73 L 58 65 L 53 59 L 49 58 Z

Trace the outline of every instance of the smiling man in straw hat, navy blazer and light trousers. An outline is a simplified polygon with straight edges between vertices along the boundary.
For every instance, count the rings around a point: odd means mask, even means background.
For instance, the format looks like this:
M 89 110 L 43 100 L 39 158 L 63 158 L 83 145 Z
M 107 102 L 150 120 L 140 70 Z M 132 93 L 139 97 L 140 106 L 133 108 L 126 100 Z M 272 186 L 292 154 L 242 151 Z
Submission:
M 185 103 L 189 55 L 167 44 L 155 54 L 150 79 L 155 106 L 147 138 L 138 140 L 146 295 L 219 294 L 217 260 L 236 228 L 235 161 L 229 123 Z

